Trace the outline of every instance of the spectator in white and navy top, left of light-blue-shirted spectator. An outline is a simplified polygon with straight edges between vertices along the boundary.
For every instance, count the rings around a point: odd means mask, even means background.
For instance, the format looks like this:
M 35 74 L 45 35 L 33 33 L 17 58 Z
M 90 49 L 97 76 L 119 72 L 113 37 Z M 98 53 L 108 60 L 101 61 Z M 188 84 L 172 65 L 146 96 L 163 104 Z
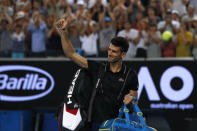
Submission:
M 12 58 L 25 57 L 25 34 L 23 27 L 20 24 L 15 26 L 15 31 L 12 34 Z

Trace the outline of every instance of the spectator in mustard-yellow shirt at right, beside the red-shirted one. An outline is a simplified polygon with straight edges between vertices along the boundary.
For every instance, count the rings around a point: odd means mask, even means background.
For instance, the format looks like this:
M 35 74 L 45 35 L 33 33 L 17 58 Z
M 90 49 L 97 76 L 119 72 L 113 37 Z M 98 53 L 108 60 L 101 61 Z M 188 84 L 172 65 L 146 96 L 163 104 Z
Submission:
M 190 57 L 193 35 L 186 22 L 181 23 L 180 32 L 176 35 L 176 57 Z

